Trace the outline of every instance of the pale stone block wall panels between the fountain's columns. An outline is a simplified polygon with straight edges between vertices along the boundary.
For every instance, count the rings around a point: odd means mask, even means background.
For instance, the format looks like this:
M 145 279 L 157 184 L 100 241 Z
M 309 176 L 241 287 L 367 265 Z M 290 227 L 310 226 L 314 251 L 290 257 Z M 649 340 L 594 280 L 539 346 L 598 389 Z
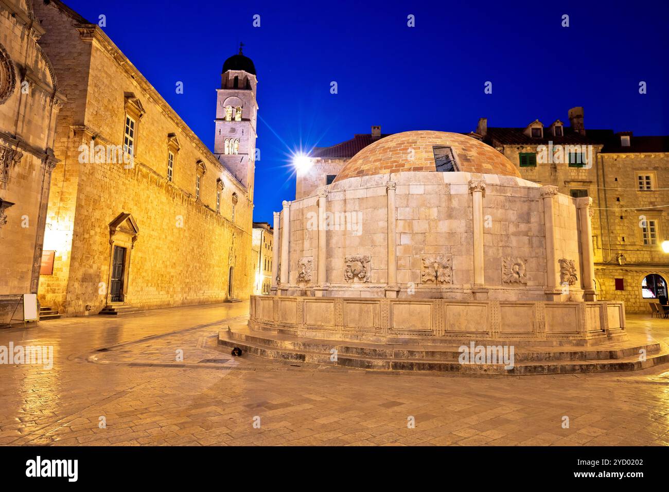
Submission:
M 546 245 L 544 203 L 540 187 L 520 178 L 474 173 L 406 171 L 396 183 L 395 226 L 399 297 L 471 299 L 474 282 L 472 194 L 470 179 L 486 182 L 484 214 L 484 280 L 489 298 L 545 299 Z M 326 214 L 327 296 L 385 297 L 388 283 L 387 175 L 363 176 L 328 186 Z M 311 295 L 318 270 L 318 193 L 290 205 L 289 293 Z M 556 260 L 575 260 L 580 272 L 575 199 L 554 198 Z M 353 216 L 352 216 L 353 214 Z M 347 220 L 353 218 L 353 227 Z M 369 280 L 347 280 L 347 258 L 368 256 Z M 299 281 L 298 264 L 309 258 L 312 276 Z M 506 263 L 522 264 L 523 281 L 509 282 Z M 434 261 L 450 262 L 450 281 L 436 284 L 423 278 Z M 555 266 L 556 270 L 559 268 Z M 579 278 L 581 275 L 579 274 Z M 563 300 L 580 300 L 581 284 L 571 286 Z M 570 297 L 571 296 L 571 297 Z M 581 297 L 582 299 L 582 297 Z

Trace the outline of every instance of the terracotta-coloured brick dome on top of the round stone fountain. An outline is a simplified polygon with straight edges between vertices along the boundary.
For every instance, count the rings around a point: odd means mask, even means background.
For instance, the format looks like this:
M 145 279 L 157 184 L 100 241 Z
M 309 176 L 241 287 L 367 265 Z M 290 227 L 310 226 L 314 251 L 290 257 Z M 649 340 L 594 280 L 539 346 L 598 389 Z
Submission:
M 413 131 L 390 135 L 365 147 L 339 171 L 334 181 L 400 171 L 437 172 L 434 147 L 450 147 L 455 152 L 459 171 L 520 177 L 518 169 L 504 155 L 472 137 Z M 409 149 L 413 149 L 413 153 Z M 409 159 L 411 155 L 413 159 Z

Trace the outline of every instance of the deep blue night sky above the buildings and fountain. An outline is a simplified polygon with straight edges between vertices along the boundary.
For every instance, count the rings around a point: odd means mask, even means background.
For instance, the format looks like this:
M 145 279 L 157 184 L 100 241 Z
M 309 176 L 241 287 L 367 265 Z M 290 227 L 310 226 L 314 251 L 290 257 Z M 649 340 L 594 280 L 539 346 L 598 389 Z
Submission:
M 256 221 L 294 197 L 293 149 L 371 125 L 568 124 L 583 106 L 586 129 L 669 135 L 665 1 L 65 1 L 91 22 L 106 15 L 104 31 L 209 148 L 221 66 L 244 42 L 259 80 Z

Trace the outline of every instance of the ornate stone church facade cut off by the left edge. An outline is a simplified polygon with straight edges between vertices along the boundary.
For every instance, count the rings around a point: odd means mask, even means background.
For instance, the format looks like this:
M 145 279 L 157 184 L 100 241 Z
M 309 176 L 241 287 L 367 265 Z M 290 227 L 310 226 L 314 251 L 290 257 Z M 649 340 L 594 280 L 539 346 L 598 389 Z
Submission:
M 36 294 L 56 120 L 64 97 L 25 0 L 0 1 L 0 325 Z M 19 318 L 22 319 L 22 318 Z

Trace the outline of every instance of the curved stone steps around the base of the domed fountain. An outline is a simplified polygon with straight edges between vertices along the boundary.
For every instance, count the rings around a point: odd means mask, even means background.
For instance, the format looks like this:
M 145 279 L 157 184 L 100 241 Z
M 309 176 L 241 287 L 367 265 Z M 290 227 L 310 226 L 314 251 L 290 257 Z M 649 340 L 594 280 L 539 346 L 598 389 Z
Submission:
M 274 339 L 274 342 L 277 340 Z M 313 342 L 313 341 L 312 341 Z M 640 361 L 639 356 L 607 359 L 572 359 L 572 360 L 519 360 L 514 356 L 514 367 L 506 370 L 504 365 L 498 364 L 460 364 L 458 359 L 430 358 L 423 353 L 423 357 L 416 358 L 417 353 L 388 353 L 363 351 L 361 353 L 343 353 L 340 351 L 342 345 L 336 345 L 325 340 L 318 343 L 287 347 L 282 343 L 271 343 L 262 337 L 254 336 L 252 333 L 239 333 L 234 331 L 220 331 L 219 345 L 224 347 L 240 347 L 244 353 L 258 355 L 268 359 L 279 359 L 283 361 L 302 362 L 317 365 L 333 365 L 339 367 L 353 367 L 365 370 L 385 371 L 432 371 L 432 372 L 459 372 L 464 374 L 499 374 L 506 376 L 524 376 L 531 374 L 574 374 L 583 372 L 611 372 L 611 371 L 633 371 L 652 367 L 660 363 L 669 362 L 669 351 L 666 347 L 660 347 L 658 351 L 647 353 L 646 360 Z M 331 348 L 337 348 L 337 360 L 332 360 Z M 318 350 L 320 348 L 320 350 Z M 327 350 L 323 350 L 327 348 Z M 316 350 L 314 350 L 316 349 Z M 432 350 L 427 352 L 433 352 Z M 452 351 L 446 351 L 452 352 Z M 597 352 L 595 351 L 595 354 Z M 376 356 L 373 356 L 376 355 Z M 379 355 L 384 355 L 379 357 Z M 395 357 L 401 355 L 401 357 Z M 430 354 L 437 355 L 437 354 Z M 460 353 L 458 352 L 458 355 Z M 618 354 L 624 355 L 624 354 Z

